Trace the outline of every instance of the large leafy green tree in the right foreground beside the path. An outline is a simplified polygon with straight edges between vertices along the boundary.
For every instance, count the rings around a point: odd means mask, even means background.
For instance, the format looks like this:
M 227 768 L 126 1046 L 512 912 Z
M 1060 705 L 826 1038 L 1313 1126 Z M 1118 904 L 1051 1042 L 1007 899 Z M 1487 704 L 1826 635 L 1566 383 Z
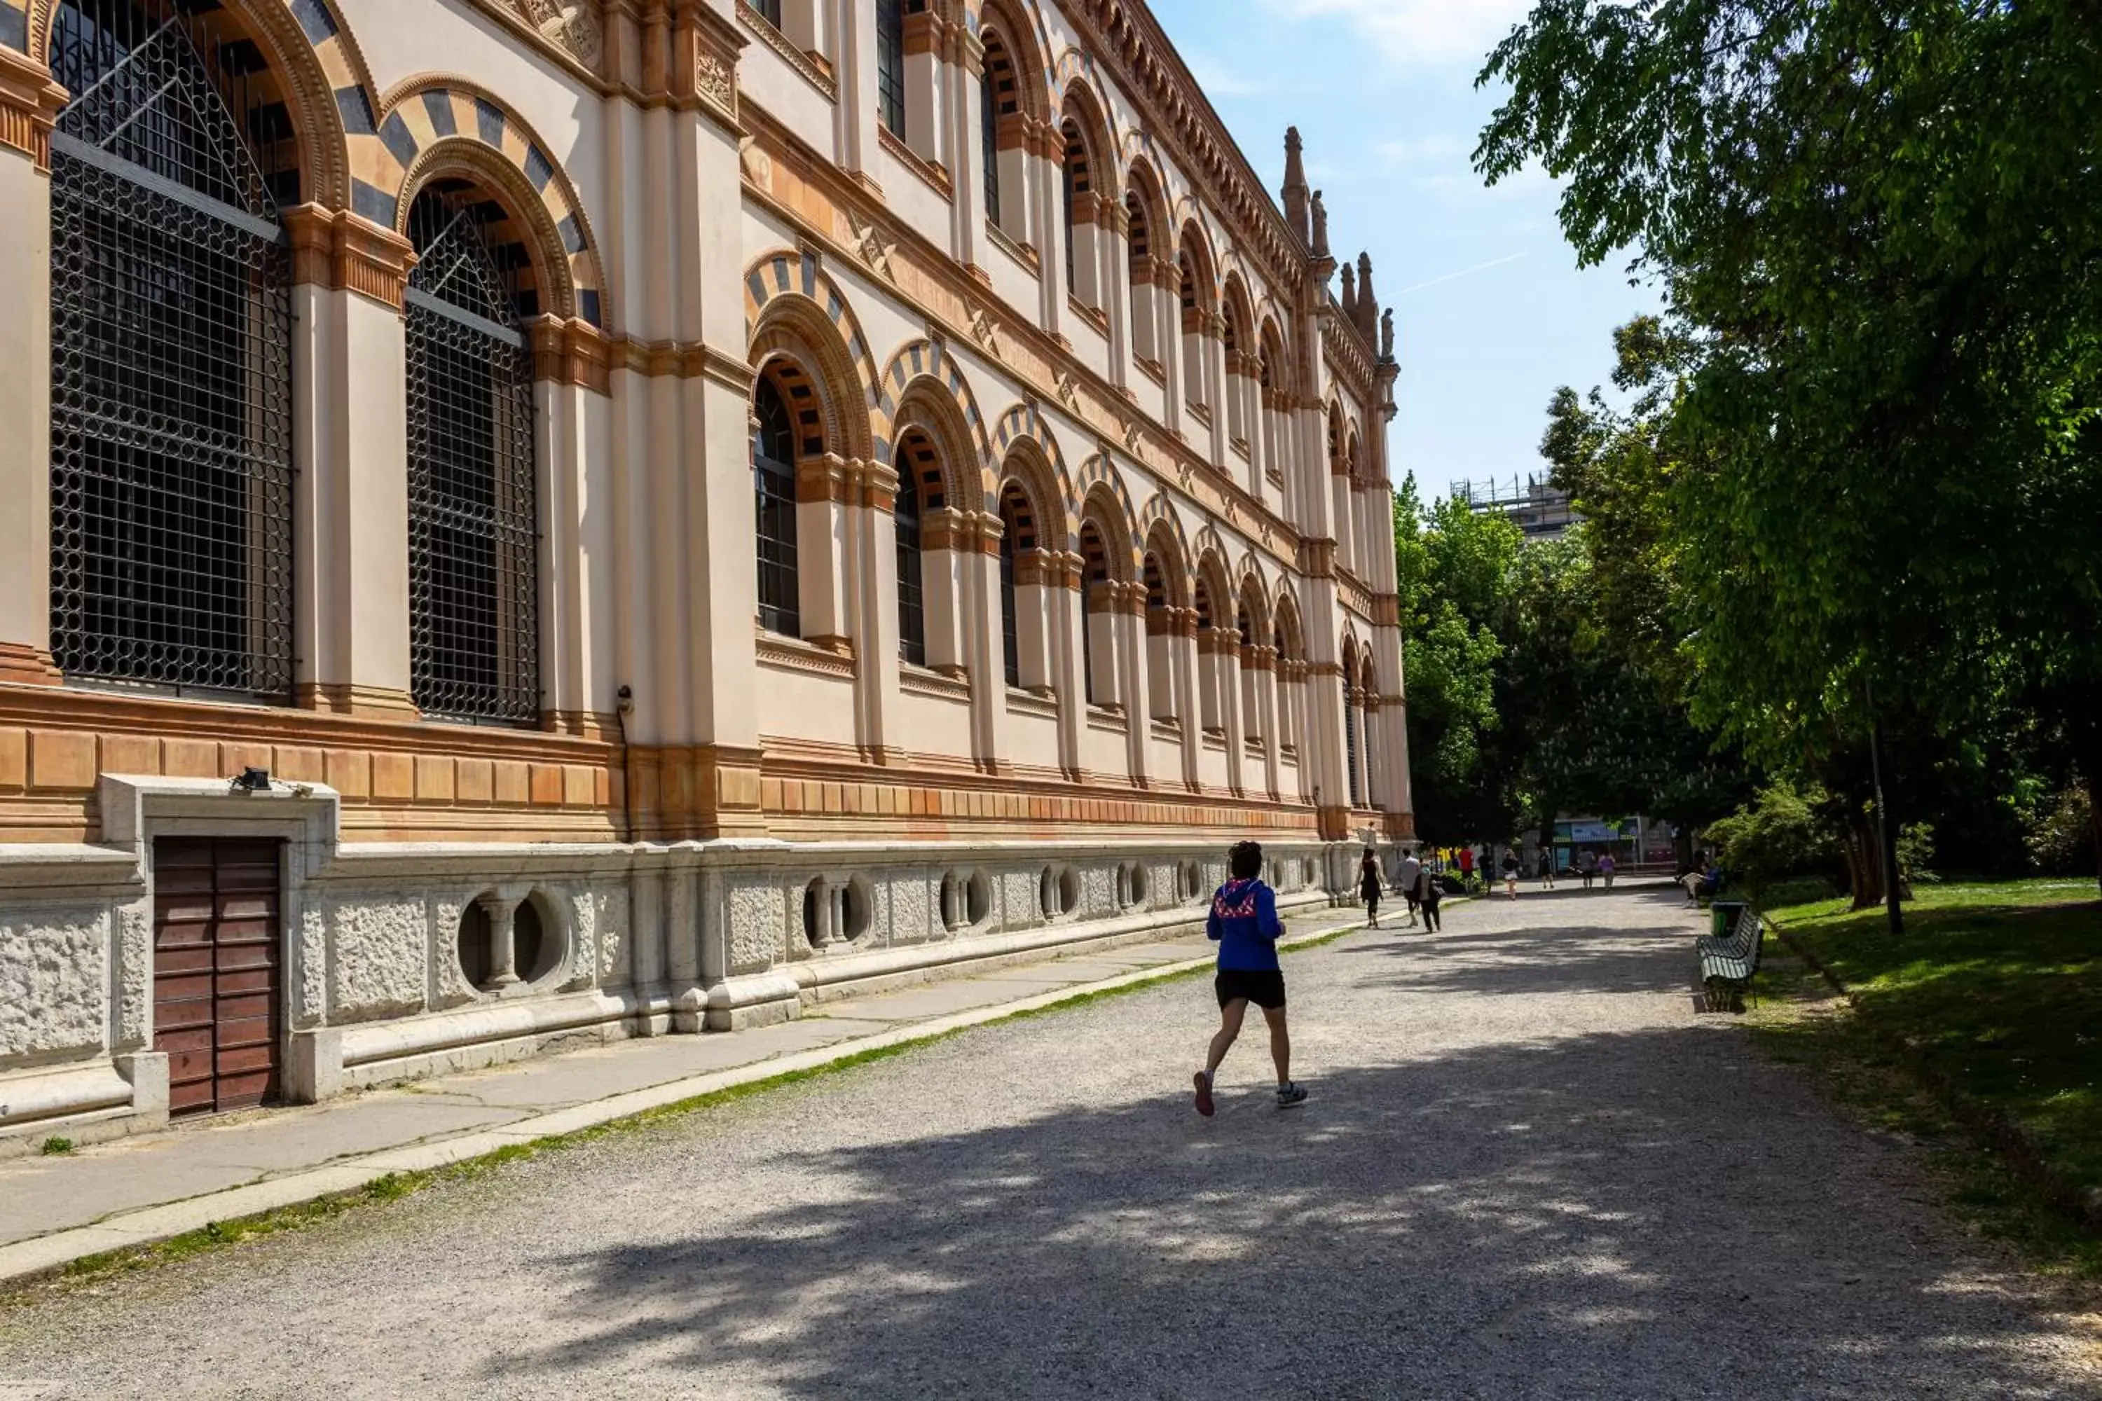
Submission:
M 1480 170 L 1665 294 L 1694 716 L 1833 792 L 1858 899 L 1871 718 L 2028 706 L 2102 773 L 2102 13 L 1541 0 L 1482 80 Z

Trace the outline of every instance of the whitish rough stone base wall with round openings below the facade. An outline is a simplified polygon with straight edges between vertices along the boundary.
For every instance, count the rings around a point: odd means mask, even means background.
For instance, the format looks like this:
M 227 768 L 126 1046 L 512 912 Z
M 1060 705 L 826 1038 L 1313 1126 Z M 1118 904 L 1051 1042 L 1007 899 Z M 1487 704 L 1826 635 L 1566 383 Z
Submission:
M 286 838 L 284 1096 L 568 1044 L 727 1031 L 1051 952 L 1188 930 L 1217 844 L 341 844 L 324 788 L 105 779 L 107 844 L 0 846 L 0 1153 L 166 1122 L 156 836 Z M 1278 844 L 1280 903 L 1349 899 L 1354 844 Z M 475 985 L 471 912 L 530 903 L 538 958 Z M 523 958 L 523 954 L 521 954 Z

